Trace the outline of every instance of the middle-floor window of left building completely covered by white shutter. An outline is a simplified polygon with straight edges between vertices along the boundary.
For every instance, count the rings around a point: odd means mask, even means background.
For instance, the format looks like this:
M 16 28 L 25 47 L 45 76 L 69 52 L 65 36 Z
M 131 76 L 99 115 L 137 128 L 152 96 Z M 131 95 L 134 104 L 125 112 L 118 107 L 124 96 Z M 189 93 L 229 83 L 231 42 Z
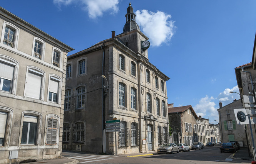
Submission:
M 42 99 L 42 80 L 44 73 L 39 72 L 38 70 L 29 68 L 27 73 L 27 81 L 25 86 L 25 97 Z

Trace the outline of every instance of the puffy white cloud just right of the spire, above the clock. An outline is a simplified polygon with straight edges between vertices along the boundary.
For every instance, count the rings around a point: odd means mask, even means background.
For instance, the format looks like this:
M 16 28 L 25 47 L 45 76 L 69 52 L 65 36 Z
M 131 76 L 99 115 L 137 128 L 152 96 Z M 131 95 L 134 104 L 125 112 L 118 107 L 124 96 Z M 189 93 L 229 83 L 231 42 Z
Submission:
M 137 10 L 136 22 L 142 32 L 151 39 L 152 46 L 161 46 L 171 40 L 174 31 L 174 21 L 170 20 L 171 15 L 162 11 L 156 13 L 147 10 Z

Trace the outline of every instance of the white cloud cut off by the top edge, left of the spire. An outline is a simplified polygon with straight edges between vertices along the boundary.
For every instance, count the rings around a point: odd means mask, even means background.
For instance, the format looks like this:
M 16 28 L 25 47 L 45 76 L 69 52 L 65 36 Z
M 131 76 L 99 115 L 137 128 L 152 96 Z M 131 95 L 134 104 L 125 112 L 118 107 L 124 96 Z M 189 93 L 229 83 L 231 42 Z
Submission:
M 117 7 L 119 0 L 54 0 L 54 4 L 59 9 L 62 5 L 67 6 L 72 3 L 79 3 L 79 6 L 87 11 L 92 19 L 102 16 L 105 11 L 110 11 L 113 14 L 119 10 Z

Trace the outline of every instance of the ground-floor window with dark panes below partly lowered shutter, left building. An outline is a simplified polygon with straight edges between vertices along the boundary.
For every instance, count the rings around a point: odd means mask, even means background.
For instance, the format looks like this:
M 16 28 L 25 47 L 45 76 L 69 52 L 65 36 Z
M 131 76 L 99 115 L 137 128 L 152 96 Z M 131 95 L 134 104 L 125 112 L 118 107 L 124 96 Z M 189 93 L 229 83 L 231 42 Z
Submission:
M 21 144 L 35 144 L 37 137 L 37 116 L 24 115 Z

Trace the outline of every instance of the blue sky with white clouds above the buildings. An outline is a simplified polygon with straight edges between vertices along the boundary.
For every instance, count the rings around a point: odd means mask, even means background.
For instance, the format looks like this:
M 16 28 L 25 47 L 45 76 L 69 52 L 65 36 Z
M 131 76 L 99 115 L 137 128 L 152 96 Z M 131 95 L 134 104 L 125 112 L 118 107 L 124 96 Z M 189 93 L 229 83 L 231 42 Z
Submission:
M 131 0 L 136 22 L 151 42 L 149 61 L 166 74 L 168 103 L 192 105 L 217 123 L 223 106 L 239 99 L 234 68 L 251 62 L 255 0 Z M 1 7 L 75 50 L 122 33 L 129 0 L 15 0 Z

